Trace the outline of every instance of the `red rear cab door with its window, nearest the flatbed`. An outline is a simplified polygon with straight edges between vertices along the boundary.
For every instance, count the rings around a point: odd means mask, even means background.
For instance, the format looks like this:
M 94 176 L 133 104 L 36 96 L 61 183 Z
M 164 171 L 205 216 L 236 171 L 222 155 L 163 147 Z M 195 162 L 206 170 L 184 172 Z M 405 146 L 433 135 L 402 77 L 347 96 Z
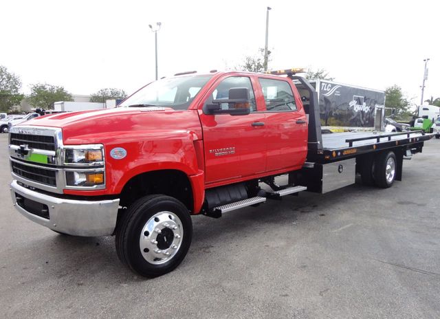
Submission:
M 296 169 L 307 156 L 307 118 L 289 80 L 259 77 L 265 100 L 267 171 Z

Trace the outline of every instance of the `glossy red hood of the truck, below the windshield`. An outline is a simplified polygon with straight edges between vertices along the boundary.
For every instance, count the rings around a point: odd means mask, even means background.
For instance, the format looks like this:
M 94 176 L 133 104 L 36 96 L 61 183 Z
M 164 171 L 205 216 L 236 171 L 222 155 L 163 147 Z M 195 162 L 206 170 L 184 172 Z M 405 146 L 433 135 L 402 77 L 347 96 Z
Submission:
M 201 138 L 201 124 L 195 110 L 175 111 L 162 107 L 118 107 L 45 115 L 20 125 L 61 128 L 65 144 L 93 144 L 104 140 L 138 137 L 147 134 L 166 136 L 195 133 Z

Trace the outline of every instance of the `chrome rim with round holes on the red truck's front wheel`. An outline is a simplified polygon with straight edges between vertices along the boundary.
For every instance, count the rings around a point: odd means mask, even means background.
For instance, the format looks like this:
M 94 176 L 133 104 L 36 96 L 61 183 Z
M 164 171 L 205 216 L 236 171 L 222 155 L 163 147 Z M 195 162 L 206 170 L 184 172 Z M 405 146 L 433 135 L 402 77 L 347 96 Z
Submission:
M 140 234 L 140 252 L 148 263 L 160 265 L 173 259 L 184 238 L 184 226 L 173 212 L 157 212 Z

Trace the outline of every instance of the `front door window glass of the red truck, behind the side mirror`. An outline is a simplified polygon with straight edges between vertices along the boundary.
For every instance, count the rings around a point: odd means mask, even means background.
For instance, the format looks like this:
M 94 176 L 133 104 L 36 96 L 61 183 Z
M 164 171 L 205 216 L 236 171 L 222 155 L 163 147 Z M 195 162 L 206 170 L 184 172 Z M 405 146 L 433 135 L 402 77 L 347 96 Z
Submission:
M 250 111 L 256 111 L 254 89 L 252 89 L 252 83 L 250 82 L 250 78 L 247 76 L 230 76 L 229 78 L 222 80 L 221 83 L 219 83 L 219 85 L 217 85 L 217 87 L 214 89 L 210 98 L 208 98 L 206 101 L 206 104 L 211 104 L 212 100 L 228 100 L 229 89 L 234 87 L 245 87 L 249 89 Z M 229 107 L 232 107 L 232 104 L 221 103 L 221 109 L 229 109 Z

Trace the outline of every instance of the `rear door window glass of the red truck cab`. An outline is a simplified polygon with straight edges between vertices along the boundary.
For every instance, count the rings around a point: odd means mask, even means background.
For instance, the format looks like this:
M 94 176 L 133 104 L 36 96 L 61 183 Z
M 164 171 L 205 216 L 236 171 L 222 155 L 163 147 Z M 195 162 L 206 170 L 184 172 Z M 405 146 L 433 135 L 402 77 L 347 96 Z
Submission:
M 289 83 L 271 78 L 259 78 L 267 111 L 296 111 L 294 92 Z

